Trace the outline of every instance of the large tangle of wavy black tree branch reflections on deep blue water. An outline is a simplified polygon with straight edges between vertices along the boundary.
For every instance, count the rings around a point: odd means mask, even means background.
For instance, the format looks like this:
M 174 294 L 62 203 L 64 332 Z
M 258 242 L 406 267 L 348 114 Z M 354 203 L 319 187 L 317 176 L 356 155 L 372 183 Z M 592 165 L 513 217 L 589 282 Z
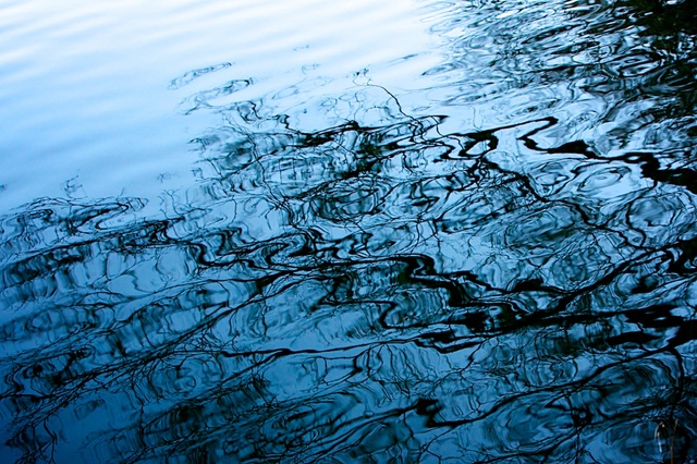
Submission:
M 580 54 L 611 36 L 594 29 L 600 19 L 617 34 L 632 24 L 636 37 L 667 37 L 647 46 L 647 69 L 661 45 L 678 54 L 663 20 L 635 3 L 623 16 L 623 3 L 578 2 L 559 27 L 595 37 Z M 493 17 L 487 8 L 478 14 Z M 492 40 L 506 40 L 506 24 Z M 692 40 L 689 27 L 670 30 Z M 548 33 L 529 34 L 526 50 L 571 60 L 575 49 L 546 41 L 563 30 Z M 676 73 L 670 82 L 610 78 L 621 66 L 610 59 L 513 72 L 537 64 L 506 56 L 498 70 L 523 80 L 518 89 L 571 80 L 617 99 L 592 120 L 615 124 L 604 142 L 560 119 L 561 100 L 457 132 L 370 82 L 308 103 L 314 130 L 302 112 L 276 111 L 273 96 L 215 103 L 254 80 L 192 96 L 187 111 L 225 122 L 195 141 L 197 183 L 163 195 L 159 215 L 138 198 L 45 198 L 2 217 L 8 455 L 687 462 L 692 53 L 672 58 L 675 71 L 656 64 Z M 680 91 L 643 106 L 667 88 Z M 622 108 L 645 120 L 612 115 Z

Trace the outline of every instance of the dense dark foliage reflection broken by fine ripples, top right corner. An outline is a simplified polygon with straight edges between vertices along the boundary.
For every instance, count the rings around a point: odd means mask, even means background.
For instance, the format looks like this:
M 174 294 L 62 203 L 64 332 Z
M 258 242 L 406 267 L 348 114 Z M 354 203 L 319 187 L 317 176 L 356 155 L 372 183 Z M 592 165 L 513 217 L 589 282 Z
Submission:
M 554 112 L 557 134 L 694 169 L 690 2 L 458 2 L 443 16 L 433 32 L 450 59 L 428 73 L 445 80 L 450 105 L 482 105 L 516 122 Z

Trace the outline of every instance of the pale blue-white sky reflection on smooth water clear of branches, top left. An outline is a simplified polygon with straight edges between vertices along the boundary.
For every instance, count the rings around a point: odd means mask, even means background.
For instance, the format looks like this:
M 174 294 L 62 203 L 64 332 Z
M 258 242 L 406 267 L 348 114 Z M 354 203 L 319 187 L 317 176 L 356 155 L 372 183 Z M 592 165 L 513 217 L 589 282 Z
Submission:
M 246 98 L 288 89 L 286 105 L 302 102 L 293 85 L 342 90 L 366 66 L 408 84 L 419 70 L 405 57 L 429 52 L 421 16 L 408 1 L 3 1 L 0 206 L 65 191 L 154 198 L 188 183 L 187 142 L 219 119 L 182 117 L 211 80 L 176 91 L 176 76 L 234 63 L 218 78 L 253 77 Z

